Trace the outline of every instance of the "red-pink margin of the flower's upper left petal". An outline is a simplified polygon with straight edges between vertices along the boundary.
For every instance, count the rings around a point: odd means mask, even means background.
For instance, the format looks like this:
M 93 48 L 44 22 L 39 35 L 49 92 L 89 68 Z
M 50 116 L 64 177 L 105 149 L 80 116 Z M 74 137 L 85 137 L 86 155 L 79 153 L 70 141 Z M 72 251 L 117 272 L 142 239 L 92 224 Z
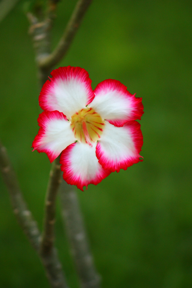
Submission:
M 58 69 L 53 70 L 50 74 L 52 75 L 52 77 L 51 78 L 49 77 L 49 79 L 45 82 L 39 95 L 39 106 L 43 110 L 45 111 L 53 110 L 51 104 L 49 103 L 49 101 L 47 101 L 47 96 L 52 91 L 54 81 L 58 79 L 62 79 L 64 81 L 70 79 L 80 80 L 80 82 L 84 84 L 84 86 L 88 91 L 88 101 L 86 105 L 91 103 L 93 98 L 95 97 L 91 87 L 92 80 L 89 78 L 89 74 L 85 69 L 81 67 L 71 67 L 71 66 L 59 67 Z

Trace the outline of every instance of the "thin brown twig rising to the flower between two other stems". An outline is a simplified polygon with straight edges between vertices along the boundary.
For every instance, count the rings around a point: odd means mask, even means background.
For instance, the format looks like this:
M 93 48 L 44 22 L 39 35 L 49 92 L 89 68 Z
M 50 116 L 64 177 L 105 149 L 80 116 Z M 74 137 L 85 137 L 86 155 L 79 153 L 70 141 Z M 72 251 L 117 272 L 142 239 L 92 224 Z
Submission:
M 60 156 L 54 160 L 47 187 L 45 199 L 45 216 L 43 224 L 41 252 L 50 253 L 54 244 L 54 223 L 55 223 L 55 201 L 59 184 L 61 183 L 61 167 L 59 164 Z

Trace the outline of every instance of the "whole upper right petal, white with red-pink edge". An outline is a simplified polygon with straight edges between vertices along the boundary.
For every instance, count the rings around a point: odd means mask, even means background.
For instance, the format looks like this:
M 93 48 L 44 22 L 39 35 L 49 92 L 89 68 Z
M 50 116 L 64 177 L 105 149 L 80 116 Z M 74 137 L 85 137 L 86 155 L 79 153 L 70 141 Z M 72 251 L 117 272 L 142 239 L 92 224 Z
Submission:
M 107 79 L 99 83 L 95 98 L 90 107 L 94 108 L 103 119 L 115 126 L 123 126 L 127 121 L 141 119 L 143 112 L 142 98 L 136 98 L 127 91 L 121 82 Z

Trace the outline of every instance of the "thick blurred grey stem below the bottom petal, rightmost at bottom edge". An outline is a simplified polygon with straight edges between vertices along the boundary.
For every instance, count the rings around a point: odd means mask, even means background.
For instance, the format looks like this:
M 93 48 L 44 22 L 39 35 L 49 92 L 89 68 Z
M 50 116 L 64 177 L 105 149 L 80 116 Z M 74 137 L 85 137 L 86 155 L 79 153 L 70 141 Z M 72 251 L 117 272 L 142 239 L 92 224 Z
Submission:
M 75 265 L 82 288 L 99 288 L 100 276 L 97 274 L 90 252 L 77 194 L 69 185 L 61 185 L 62 217 L 66 225 Z

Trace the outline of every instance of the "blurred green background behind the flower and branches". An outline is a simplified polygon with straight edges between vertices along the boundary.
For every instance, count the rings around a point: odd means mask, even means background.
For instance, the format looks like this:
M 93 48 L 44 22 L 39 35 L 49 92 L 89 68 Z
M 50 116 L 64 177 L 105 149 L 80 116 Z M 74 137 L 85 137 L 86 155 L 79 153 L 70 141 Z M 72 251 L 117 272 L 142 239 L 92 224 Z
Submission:
M 75 3 L 58 4 L 53 48 Z M 50 162 L 31 153 L 40 108 L 23 4 L 0 23 L 0 138 L 41 228 Z M 191 8 L 185 0 L 94 0 L 57 66 L 86 69 L 93 88 L 117 79 L 143 98 L 144 161 L 77 192 L 103 288 L 192 287 Z M 1 177 L 0 189 L 0 287 L 48 287 Z M 77 288 L 59 203 L 56 246 Z

